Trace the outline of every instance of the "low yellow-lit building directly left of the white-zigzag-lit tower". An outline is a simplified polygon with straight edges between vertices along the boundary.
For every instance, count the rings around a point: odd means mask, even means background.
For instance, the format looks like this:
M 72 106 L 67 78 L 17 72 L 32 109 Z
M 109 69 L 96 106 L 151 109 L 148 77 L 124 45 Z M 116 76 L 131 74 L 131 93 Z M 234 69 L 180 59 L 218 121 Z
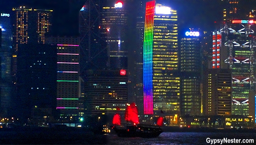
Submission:
M 231 69 L 208 69 L 204 72 L 204 115 L 229 116 L 232 111 Z

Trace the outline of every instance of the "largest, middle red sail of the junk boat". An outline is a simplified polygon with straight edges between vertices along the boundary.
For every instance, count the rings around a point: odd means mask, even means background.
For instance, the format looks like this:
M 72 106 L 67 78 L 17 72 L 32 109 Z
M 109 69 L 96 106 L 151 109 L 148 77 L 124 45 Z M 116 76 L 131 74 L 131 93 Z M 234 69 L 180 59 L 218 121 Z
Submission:
M 127 104 L 125 120 L 135 124 L 139 123 L 138 109 L 135 103 Z

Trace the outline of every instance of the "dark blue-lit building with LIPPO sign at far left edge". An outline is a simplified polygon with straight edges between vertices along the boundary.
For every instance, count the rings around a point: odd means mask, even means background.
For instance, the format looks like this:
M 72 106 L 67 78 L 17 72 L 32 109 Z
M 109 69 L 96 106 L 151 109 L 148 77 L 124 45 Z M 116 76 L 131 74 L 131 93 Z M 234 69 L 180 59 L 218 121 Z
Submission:
M 0 11 L 0 115 L 11 110 L 11 45 L 10 14 Z

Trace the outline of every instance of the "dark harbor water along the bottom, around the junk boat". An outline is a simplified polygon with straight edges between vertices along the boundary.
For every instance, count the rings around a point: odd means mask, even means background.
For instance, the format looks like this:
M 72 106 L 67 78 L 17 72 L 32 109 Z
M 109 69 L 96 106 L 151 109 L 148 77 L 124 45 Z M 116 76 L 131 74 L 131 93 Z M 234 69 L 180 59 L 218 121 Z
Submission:
M 78 128 L 0 128 L 0 145 L 229 145 L 207 143 L 213 139 L 254 139 L 250 132 L 163 132 L 157 138 L 120 138 L 110 134 L 96 134 Z

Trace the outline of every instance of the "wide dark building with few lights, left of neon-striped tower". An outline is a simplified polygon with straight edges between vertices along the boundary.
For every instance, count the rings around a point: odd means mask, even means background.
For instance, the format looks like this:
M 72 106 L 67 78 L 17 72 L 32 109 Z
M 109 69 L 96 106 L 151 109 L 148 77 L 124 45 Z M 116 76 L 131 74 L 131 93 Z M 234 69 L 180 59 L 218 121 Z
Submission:
M 53 45 L 19 45 L 17 66 L 17 118 L 26 123 L 54 117 L 57 95 L 57 49 Z

